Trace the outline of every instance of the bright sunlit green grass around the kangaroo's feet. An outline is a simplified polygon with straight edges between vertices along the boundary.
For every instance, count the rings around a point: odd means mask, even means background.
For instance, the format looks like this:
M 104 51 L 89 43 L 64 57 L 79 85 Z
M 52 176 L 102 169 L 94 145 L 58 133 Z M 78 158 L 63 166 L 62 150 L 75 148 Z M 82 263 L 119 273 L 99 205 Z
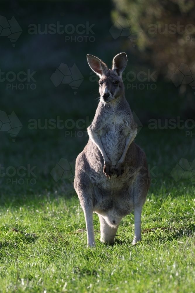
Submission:
M 73 233 L 85 227 L 75 195 L 6 202 L 0 210 L 0 292 L 195 292 L 195 189 L 181 189 L 177 198 L 175 192 L 161 186 L 158 197 L 149 193 L 142 229 L 171 231 L 144 233 L 136 246 L 133 214 L 122 219 L 113 246 L 100 243 L 96 232 L 96 248 L 87 248 L 86 232 Z

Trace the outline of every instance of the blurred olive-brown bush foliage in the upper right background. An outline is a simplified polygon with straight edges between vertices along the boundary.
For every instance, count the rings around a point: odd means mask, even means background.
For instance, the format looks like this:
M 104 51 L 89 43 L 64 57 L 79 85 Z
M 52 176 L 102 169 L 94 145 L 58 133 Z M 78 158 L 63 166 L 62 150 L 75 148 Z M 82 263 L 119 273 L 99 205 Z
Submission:
M 119 16 L 134 16 L 143 29 L 137 40 L 136 57 L 151 64 L 159 75 L 170 79 L 181 63 L 194 65 L 195 2 L 192 0 L 113 0 L 111 12 L 115 22 Z M 132 21 L 136 30 L 136 22 Z M 194 38 L 194 40 L 193 40 Z M 132 43 L 126 42 L 132 48 Z M 141 51 L 141 54 L 140 54 Z

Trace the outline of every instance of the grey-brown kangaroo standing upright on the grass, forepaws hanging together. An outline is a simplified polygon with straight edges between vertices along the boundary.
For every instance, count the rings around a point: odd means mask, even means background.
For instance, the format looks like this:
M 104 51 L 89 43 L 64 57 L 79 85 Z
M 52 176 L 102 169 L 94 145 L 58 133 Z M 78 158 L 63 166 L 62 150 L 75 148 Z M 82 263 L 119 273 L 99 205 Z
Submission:
M 116 55 L 112 69 L 93 55 L 88 54 L 87 61 L 100 77 L 100 101 L 87 128 L 89 141 L 75 166 L 74 188 L 84 210 L 87 244 L 95 246 L 93 212 L 100 220 L 100 241 L 112 244 L 122 217 L 134 209 L 134 245 L 141 240 L 150 174 L 144 151 L 133 142 L 137 125 L 122 81 L 127 55 Z

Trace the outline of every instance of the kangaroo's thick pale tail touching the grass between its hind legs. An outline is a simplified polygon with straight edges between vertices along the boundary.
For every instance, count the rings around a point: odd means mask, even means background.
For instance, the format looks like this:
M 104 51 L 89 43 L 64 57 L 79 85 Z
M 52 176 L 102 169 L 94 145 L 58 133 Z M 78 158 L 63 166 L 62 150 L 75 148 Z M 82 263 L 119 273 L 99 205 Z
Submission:
M 100 241 L 104 243 L 109 243 L 112 244 L 114 243 L 115 235 L 118 229 L 118 226 L 112 228 L 109 226 L 106 222 L 106 220 L 100 215 L 99 216 L 99 221 L 100 221 Z

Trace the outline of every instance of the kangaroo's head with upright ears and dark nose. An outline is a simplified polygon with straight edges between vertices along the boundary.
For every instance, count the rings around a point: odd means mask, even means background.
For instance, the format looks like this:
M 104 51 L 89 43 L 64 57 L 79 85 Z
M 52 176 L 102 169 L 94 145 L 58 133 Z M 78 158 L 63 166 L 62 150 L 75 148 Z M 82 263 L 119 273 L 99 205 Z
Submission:
M 100 77 L 99 93 L 103 102 L 108 103 L 124 94 L 122 71 L 127 65 L 126 53 L 114 57 L 112 69 L 108 69 L 105 63 L 93 55 L 88 54 L 87 61 L 91 69 Z

